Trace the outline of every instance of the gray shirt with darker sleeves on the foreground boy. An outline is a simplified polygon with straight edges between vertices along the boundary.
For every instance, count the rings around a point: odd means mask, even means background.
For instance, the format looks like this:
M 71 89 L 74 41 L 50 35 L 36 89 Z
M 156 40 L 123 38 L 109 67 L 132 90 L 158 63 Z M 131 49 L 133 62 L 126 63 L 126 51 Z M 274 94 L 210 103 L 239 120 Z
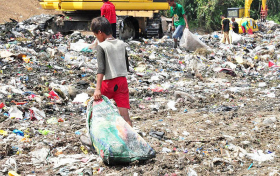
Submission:
M 105 79 L 126 76 L 129 70 L 128 57 L 123 41 L 105 40 L 96 47 L 97 73 Z

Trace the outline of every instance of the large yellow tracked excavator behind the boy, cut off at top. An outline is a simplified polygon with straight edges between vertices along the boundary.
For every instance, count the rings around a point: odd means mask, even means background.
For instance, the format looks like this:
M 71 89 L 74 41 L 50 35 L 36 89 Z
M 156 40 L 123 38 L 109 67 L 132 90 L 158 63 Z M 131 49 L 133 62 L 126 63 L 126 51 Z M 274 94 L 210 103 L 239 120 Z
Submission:
M 68 32 L 88 30 L 93 17 L 100 16 L 102 0 L 39 0 L 44 9 L 63 11 L 63 20 L 53 19 L 49 28 Z M 125 39 L 160 37 L 162 27 L 158 10 L 169 9 L 166 0 L 110 0 L 117 15 L 117 37 Z M 59 25 L 58 25 L 59 23 Z

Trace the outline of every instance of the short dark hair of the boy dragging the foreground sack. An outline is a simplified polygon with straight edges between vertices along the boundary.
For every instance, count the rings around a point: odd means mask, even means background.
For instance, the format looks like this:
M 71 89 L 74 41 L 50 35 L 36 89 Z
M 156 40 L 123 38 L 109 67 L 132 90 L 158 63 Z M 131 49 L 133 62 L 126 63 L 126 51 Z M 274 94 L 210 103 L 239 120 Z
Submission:
M 94 33 L 98 33 L 99 30 L 101 32 L 104 32 L 106 35 L 113 33 L 110 22 L 108 21 L 108 19 L 102 16 L 93 18 L 90 28 Z

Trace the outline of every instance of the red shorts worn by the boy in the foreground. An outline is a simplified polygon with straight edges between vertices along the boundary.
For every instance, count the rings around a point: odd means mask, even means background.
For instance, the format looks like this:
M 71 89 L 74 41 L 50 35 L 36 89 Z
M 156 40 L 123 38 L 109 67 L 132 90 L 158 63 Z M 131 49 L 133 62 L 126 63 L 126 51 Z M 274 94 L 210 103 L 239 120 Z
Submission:
M 113 99 L 117 107 L 130 109 L 129 92 L 126 77 L 115 77 L 103 80 L 101 84 L 102 95 Z

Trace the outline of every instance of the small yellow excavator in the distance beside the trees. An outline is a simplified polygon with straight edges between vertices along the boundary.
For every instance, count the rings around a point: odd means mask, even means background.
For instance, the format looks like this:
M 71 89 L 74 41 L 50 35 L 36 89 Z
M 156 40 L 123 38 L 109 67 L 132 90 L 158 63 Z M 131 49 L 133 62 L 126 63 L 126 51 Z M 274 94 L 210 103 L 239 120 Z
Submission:
M 258 26 L 253 18 L 250 18 L 250 7 L 253 0 L 245 0 L 244 8 L 227 8 L 227 18 L 235 17 L 239 26 L 239 33 L 242 33 L 241 24 L 248 21 L 249 27 L 253 32 L 258 31 Z M 260 21 L 263 22 L 267 16 L 266 0 L 261 0 Z

